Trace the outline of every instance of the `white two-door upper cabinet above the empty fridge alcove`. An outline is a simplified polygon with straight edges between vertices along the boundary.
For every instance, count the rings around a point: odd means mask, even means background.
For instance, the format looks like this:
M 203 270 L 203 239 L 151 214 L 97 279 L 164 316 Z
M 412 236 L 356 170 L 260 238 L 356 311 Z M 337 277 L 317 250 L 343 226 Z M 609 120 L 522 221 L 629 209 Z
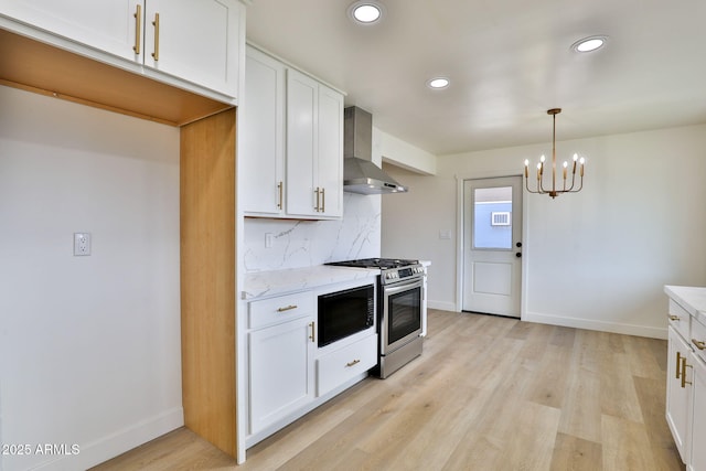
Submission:
M 238 95 L 244 9 L 237 0 L 0 0 L 1 15 L 87 47 L 74 52 L 231 98 Z

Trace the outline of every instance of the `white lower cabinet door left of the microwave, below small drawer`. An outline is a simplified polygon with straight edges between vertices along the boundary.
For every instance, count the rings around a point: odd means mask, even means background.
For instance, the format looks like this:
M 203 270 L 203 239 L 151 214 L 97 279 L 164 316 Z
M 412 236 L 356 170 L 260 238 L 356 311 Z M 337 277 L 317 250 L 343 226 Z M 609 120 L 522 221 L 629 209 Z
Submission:
M 250 433 L 313 400 L 312 319 L 250 332 Z

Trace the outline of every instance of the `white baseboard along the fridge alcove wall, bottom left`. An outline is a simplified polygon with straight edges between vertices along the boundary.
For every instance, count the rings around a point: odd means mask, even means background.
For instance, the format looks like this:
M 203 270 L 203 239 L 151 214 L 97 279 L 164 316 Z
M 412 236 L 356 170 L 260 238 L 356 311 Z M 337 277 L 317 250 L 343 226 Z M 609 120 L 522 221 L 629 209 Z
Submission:
M 34 469 L 42 471 L 88 469 L 175 430 L 183 425 L 184 409 L 175 407 L 89 443 L 82 443 L 79 445 L 78 453 L 55 457 Z

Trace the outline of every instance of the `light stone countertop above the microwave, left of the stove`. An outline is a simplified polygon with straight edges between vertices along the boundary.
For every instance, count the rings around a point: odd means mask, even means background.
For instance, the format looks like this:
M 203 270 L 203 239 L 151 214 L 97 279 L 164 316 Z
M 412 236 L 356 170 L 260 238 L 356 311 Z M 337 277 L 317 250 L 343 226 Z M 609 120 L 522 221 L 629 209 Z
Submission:
M 353 281 L 379 275 L 379 269 L 332 267 L 288 268 L 285 270 L 252 271 L 245 275 L 244 300 L 285 295 L 287 292 L 313 289 L 338 282 Z

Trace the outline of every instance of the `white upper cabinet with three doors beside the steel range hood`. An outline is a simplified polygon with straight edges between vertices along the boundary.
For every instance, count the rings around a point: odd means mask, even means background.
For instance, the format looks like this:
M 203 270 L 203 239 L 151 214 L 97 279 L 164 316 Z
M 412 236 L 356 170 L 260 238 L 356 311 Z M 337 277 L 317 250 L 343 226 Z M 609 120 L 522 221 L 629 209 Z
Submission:
M 245 214 L 343 215 L 343 94 L 247 47 L 239 111 Z

